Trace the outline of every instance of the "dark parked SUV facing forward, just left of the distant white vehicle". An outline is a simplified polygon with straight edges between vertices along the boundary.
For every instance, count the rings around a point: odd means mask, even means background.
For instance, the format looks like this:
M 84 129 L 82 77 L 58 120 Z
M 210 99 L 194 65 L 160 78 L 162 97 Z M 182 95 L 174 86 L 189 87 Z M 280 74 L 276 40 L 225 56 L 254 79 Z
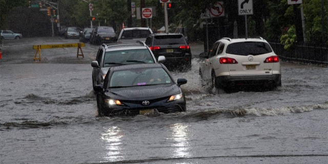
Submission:
M 113 43 L 117 40 L 117 34 L 113 27 L 99 26 L 96 27 L 91 34 L 90 43 L 92 44 L 103 44 Z

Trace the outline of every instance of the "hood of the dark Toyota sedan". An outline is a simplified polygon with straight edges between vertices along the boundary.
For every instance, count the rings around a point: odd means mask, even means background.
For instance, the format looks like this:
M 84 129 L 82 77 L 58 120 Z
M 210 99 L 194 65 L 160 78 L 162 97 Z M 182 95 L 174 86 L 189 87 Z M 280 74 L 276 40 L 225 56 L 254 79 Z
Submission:
M 165 84 L 128 88 L 110 88 L 106 95 L 113 99 L 120 100 L 145 100 L 168 97 L 179 94 L 180 92 L 181 91 L 177 85 Z

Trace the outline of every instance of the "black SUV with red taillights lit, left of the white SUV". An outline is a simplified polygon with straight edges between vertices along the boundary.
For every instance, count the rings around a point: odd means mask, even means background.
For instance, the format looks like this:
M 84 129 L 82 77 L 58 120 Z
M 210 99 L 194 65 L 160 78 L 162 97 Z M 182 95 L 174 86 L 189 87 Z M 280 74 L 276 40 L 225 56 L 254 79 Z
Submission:
M 183 34 L 150 34 L 146 39 L 146 45 L 153 51 L 156 58 L 165 56 L 166 62 L 163 64 L 168 68 L 173 67 L 185 71 L 191 69 L 191 51 Z

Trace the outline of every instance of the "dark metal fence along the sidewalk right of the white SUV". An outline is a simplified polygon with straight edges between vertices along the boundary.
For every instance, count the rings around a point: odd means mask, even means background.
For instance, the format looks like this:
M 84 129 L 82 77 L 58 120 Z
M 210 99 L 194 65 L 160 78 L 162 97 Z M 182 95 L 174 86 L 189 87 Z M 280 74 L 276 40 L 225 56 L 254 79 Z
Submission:
M 277 40 L 269 44 L 282 60 L 328 65 L 328 45 L 298 43 L 294 49 L 285 50 L 284 45 Z

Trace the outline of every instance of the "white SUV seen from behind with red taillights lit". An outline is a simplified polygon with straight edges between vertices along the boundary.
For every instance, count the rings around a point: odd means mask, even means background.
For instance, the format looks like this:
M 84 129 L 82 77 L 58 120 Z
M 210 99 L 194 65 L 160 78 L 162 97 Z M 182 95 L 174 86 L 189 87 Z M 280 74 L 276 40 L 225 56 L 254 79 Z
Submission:
M 221 38 L 203 58 L 199 75 L 203 85 L 226 91 L 239 86 L 281 86 L 279 57 L 263 38 Z

